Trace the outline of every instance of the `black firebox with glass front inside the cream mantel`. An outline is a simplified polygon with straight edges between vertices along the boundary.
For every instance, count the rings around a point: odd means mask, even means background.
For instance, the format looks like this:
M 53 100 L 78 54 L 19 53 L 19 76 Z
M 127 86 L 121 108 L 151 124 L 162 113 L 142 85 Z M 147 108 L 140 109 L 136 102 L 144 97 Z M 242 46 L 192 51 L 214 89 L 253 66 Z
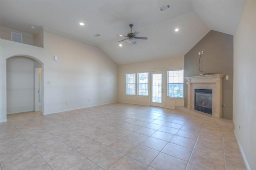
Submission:
M 195 89 L 195 110 L 212 115 L 212 90 Z

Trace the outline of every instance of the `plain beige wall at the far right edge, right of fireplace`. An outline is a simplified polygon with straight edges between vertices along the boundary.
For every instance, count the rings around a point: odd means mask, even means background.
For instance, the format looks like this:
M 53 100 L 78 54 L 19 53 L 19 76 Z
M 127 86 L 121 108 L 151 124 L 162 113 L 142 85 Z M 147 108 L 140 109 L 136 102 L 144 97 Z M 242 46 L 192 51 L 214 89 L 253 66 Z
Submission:
M 246 1 L 234 35 L 233 121 L 242 155 L 251 170 L 256 170 L 255 64 L 256 1 Z

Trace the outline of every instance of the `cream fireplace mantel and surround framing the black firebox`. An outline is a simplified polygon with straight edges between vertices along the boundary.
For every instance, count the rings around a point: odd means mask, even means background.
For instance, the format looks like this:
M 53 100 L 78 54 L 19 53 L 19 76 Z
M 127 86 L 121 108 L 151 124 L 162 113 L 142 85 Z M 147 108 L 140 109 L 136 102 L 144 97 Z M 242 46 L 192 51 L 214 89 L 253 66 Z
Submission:
M 222 118 L 222 78 L 225 74 L 186 77 L 188 80 L 188 109 L 194 109 L 194 89 L 212 90 L 212 116 Z

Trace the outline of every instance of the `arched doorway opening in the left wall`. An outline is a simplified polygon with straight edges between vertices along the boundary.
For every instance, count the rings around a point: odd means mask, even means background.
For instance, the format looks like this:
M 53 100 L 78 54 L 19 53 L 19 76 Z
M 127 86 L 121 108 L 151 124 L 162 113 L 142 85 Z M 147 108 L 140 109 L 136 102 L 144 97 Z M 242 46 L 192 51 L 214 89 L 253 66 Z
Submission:
M 42 73 L 43 64 L 35 57 L 16 55 L 6 59 L 7 114 L 26 111 L 43 114 L 43 95 L 40 95 L 43 94 Z

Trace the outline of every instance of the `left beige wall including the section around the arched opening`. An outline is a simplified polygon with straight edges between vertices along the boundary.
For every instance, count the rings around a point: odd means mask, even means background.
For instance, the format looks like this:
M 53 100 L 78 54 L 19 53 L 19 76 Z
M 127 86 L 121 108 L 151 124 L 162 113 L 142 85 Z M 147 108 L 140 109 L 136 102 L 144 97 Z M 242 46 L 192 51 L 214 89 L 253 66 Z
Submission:
M 0 122 L 7 112 L 6 59 L 13 56 L 43 63 L 44 114 L 117 102 L 118 66 L 102 50 L 46 32 L 44 48 L 0 43 Z

